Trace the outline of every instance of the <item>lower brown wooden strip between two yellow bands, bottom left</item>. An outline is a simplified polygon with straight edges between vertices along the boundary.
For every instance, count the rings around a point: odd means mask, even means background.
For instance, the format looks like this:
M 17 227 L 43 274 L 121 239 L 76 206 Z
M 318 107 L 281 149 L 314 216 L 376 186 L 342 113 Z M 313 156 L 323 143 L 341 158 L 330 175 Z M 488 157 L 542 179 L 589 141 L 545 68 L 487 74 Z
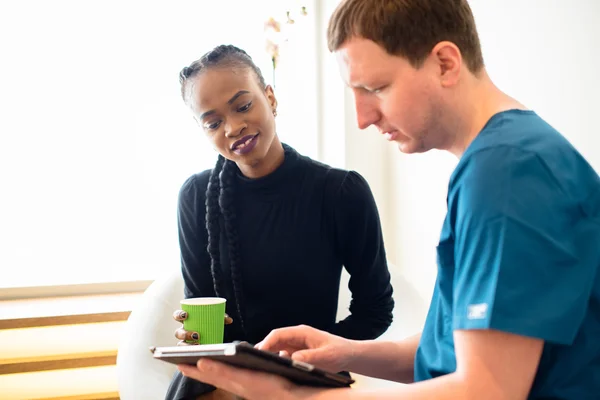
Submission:
M 114 365 L 117 362 L 117 350 L 59 354 L 46 357 L 22 357 L 0 359 L 0 375 L 22 372 L 50 371 L 55 369 L 99 367 Z

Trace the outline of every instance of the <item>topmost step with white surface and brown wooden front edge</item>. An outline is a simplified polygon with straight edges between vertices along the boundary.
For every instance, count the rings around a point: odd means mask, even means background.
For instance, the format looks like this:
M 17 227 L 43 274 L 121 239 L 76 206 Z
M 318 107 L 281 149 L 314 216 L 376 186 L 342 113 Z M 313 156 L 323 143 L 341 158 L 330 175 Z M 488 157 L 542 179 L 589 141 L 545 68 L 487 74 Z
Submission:
M 0 330 L 125 321 L 142 293 L 0 301 Z

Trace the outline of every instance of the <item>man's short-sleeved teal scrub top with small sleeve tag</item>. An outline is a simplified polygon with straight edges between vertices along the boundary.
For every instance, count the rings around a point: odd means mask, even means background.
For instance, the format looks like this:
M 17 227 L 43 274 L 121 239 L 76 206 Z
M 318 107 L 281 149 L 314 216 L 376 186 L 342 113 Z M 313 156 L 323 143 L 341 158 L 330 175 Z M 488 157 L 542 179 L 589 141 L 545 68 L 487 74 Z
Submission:
M 533 111 L 494 115 L 448 187 L 415 379 L 456 369 L 453 331 L 544 340 L 529 399 L 600 399 L 600 177 Z

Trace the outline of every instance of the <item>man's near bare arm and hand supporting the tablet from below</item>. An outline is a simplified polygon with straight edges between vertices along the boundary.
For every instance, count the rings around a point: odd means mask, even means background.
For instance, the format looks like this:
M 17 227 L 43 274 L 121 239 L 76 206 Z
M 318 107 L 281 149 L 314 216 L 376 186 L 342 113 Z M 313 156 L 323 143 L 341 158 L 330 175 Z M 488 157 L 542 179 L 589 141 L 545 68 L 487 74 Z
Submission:
M 186 376 L 201 379 L 247 400 L 525 400 L 542 354 L 543 341 L 493 330 L 456 331 L 457 370 L 454 373 L 387 390 L 315 389 L 292 385 L 275 375 L 202 360 L 198 368 L 181 365 Z M 370 342 L 374 352 L 399 347 Z M 368 347 L 365 347 L 368 349 Z M 401 352 L 401 351 L 400 351 Z M 359 355 L 352 363 L 385 369 L 393 354 Z M 387 365 L 394 368 L 393 365 Z

